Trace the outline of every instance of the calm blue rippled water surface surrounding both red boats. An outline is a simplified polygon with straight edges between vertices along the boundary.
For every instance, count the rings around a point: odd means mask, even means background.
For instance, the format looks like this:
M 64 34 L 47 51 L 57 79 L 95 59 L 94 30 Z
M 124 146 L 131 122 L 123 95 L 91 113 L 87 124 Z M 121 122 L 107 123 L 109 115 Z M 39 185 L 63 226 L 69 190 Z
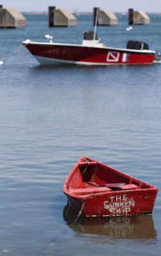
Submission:
M 80 218 L 65 208 L 63 182 L 88 156 L 161 189 L 161 65 L 41 67 L 20 43 L 27 38 L 80 43 L 93 29 L 48 28 L 47 15 L 26 15 L 26 28 L 0 30 L 0 255 L 159 255 L 160 190 L 153 214 Z M 99 27 L 105 45 L 142 40 L 161 51 L 161 17 L 127 32 Z M 3 58 L 6 57 L 6 58 Z

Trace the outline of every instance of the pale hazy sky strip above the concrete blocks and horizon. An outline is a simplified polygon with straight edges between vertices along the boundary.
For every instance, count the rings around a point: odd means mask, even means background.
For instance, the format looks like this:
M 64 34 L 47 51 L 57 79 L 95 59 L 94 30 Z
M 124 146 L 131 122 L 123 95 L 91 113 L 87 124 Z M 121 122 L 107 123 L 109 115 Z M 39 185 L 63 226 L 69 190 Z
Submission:
M 161 12 L 160 0 L 1 0 L 3 8 L 16 8 L 20 12 L 47 12 L 48 6 L 66 9 L 72 12 L 77 9 L 78 12 L 92 12 L 93 7 L 100 6 L 101 10 L 111 10 L 112 12 L 127 12 L 128 8 L 134 8 L 137 11 Z

